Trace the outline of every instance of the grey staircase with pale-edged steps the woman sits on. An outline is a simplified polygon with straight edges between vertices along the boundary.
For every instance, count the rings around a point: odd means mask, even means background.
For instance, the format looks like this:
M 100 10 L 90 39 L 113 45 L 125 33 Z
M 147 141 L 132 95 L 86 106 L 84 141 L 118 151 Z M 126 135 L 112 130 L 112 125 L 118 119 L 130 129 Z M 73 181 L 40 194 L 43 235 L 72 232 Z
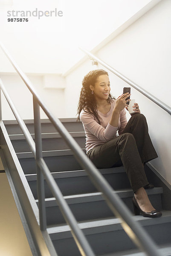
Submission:
M 76 119 L 60 119 L 72 137 L 85 151 L 85 134 L 82 123 Z M 34 139 L 33 120 L 25 120 Z M 23 172 L 37 200 L 37 175 L 35 158 L 16 121 L 4 121 Z M 67 204 L 69 204 L 79 226 L 87 237 L 93 251 L 101 256 L 142 256 L 122 229 L 121 221 L 113 216 L 101 193 L 91 183 L 85 170 L 77 163 L 72 151 L 48 119 L 41 120 L 43 158 L 58 183 Z M 123 168 L 99 169 L 116 193 L 133 212 L 133 191 Z M 153 180 L 150 180 L 153 183 Z M 171 211 L 162 207 L 162 187 L 147 189 L 148 196 L 156 209 L 162 210 L 161 218 L 134 216 L 160 247 L 164 256 L 171 256 Z M 64 221 L 55 198 L 52 197 L 46 181 L 46 219 L 48 233 L 58 256 L 80 256 L 70 227 Z

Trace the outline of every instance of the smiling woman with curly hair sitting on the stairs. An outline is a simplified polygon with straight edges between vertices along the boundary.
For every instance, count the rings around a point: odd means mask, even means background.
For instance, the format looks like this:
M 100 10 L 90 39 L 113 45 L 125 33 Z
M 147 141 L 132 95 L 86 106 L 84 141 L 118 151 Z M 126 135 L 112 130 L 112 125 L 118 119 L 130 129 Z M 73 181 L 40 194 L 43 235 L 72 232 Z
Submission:
M 134 191 L 135 214 L 145 217 L 160 217 L 154 209 L 145 188 L 148 183 L 144 164 L 157 158 L 157 153 L 148 134 L 145 116 L 140 114 L 135 103 L 135 113 L 127 122 L 125 107 L 129 93 L 114 99 L 110 94 L 110 81 L 105 70 L 92 70 L 82 81 L 78 103 L 78 119 L 86 134 L 86 154 L 97 168 L 125 167 Z M 127 107 L 126 107 L 127 108 Z M 118 131 L 119 136 L 116 136 Z

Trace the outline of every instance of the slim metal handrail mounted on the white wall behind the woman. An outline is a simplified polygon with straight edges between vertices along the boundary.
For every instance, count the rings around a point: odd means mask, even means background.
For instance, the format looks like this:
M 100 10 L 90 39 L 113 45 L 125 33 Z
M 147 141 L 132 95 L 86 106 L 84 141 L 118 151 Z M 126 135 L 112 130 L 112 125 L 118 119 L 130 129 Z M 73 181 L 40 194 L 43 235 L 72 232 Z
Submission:
M 121 78 L 123 81 L 125 81 L 126 83 L 128 83 L 130 86 L 132 86 L 134 89 L 138 90 L 140 93 L 142 93 L 144 96 L 146 96 L 148 99 L 150 99 L 152 102 L 156 103 L 160 108 L 164 109 L 165 111 L 167 111 L 170 115 L 171 115 L 171 107 L 169 107 L 168 105 L 166 105 L 164 102 L 162 102 L 161 100 L 159 100 L 157 97 L 155 97 L 154 95 L 152 95 L 151 93 L 149 93 L 147 90 L 143 89 L 142 87 L 140 87 L 138 84 L 134 83 L 133 81 L 131 81 L 130 79 L 128 79 L 126 76 L 123 76 L 121 73 L 119 73 L 117 70 L 115 70 L 113 67 L 111 67 L 110 65 L 108 65 L 106 62 L 102 61 L 101 59 L 99 59 L 98 57 L 96 57 L 93 53 L 87 51 L 86 49 L 79 47 L 81 49 L 81 51 L 85 52 L 89 57 L 93 58 L 94 60 L 96 60 L 97 62 L 99 62 L 102 66 L 104 66 L 105 68 L 107 68 L 108 70 L 110 70 L 113 74 L 115 74 L 116 76 L 118 76 L 119 78 Z

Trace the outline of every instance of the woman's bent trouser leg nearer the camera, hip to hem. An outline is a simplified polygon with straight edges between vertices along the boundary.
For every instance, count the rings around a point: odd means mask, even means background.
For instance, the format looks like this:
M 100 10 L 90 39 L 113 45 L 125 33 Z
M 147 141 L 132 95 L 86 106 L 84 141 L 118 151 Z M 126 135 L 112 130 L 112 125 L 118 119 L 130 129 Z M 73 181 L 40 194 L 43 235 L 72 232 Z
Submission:
M 136 141 L 125 133 L 87 152 L 97 168 L 125 167 L 133 191 L 148 184 Z

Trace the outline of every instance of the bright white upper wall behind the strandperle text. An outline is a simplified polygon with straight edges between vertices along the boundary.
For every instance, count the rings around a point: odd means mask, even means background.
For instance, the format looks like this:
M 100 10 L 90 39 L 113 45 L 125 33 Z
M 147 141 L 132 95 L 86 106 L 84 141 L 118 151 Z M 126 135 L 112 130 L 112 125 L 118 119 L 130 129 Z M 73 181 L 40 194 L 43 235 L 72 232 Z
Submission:
M 64 73 L 148 3 L 158 0 L 0 0 L 0 41 L 26 73 Z M 2 4 L 3 3 L 3 4 Z M 153 4 L 152 3 L 152 4 Z M 62 17 L 28 17 L 8 22 L 7 11 L 63 11 Z M 0 50 L 0 72 L 13 67 Z

